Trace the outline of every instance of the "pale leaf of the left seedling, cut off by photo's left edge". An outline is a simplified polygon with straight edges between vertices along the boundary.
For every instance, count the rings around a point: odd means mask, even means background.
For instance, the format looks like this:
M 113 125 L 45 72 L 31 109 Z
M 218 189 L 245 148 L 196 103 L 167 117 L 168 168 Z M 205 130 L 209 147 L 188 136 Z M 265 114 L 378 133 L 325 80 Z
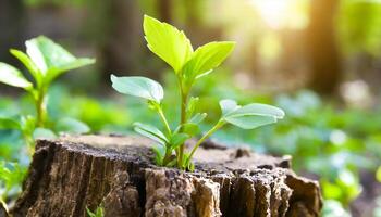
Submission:
M 17 68 L 1 62 L 0 82 L 13 87 L 24 88 L 26 90 L 30 90 L 33 88 L 33 84 L 29 82 Z

